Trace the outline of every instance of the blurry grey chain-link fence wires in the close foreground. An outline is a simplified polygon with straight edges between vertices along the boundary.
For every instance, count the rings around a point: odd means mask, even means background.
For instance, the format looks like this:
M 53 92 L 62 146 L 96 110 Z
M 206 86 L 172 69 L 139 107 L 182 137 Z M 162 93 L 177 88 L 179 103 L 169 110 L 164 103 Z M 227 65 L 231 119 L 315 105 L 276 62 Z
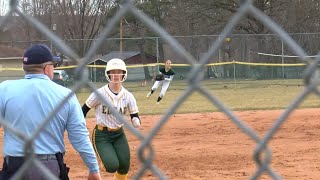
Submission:
M 152 162 L 154 159 L 154 153 L 155 153 L 154 149 L 151 146 L 152 140 L 155 137 L 155 135 L 159 132 L 159 130 L 164 126 L 164 124 L 166 124 L 170 116 L 177 110 L 177 108 L 184 101 L 186 101 L 186 99 L 195 91 L 205 96 L 212 104 L 217 106 L 222 112 L 224 112 L 229 117 L 229 119 L 237 127 L 239 127 L 242 130 L 243 133 L 245 133 L 253 141 L 256 142 L 256 148 L 253 149 L 253 152 L 254 152 L 254 160 L 257 164 L 257 169 L 251 175 L 251 179 L 258 179 L 263 173 L 266 173 L 272 179 L 281 179 L 281 177 L 276 173 L 276 171 L 271 166 L 270 161 L 272 156 L 271 155 L 272 150 L 268 146 L 269 141 L 271 140 L 272 136 L 279 130 L 279 127 L 287 120 L 288 116 L 299 106 L 301 102 L 303 102 L 303 100 L 306 98 L 307 95 L 309 95 L 310 93 L 316 93 L 320 95 L 320 92 L 316 88 L 318 81 L 314 81 L 312 79 L 312 77 L 314 76 L 313 74 L 317 71 L 317 64 L 319 63 L 319 57 L 317 57 L 316 59 L 310 59 L 307 53 L 305 52 L 305 50 L 302 49 L 291 38 L 291 36 L 288 35 L 287 32 L 285 32 L 279 25 L 277 25 L 274 21 L 272 21 L 262 11 L 254 7 L 252 4 L 252 1 L 250 0 L 244 1 L 244 3 L 241 5 L 238 11 L 229 20 L 228 24 L 225 26 L 224 30 L 221 32 L 219 38 L 217 38 L 214 41 L 214 43 L 210 45 L 210 47 L 208 48 L 208 52 L 204 56 L 202 56 L 202 58 L 200 58 L 199 61 L 197 61 L 196 58 L 193 57 L 190 52 L 188 52 L 183 46 L 181 46 L 181 44 L 175 38 L 172 38 L 172 36 L 170 36 L 168 32 L 166 32 L 161 26 L 159 26 L 159 24 L 153 21 L 152 18 L 148 17 L 142 11 L 137 9 L 137 7 L 135 7 L 130 1 L 126 1 L 126 3 L 123 4 L 122 8 L 119 9 L 119 11 L 113 16 L 112 19 L 110 19 L 105 29 L 101 31 L 101 34 L 99 35 L 99 38 L 97 39 L 97 41 L 90 47 L 90 49 L 87 51 L 87 53 L 83 57 L 80 57 L 73 49 L 71 49 L 67 44 L 65 44 L 60 37 L 54 35 L 47 27 L 39 23 L 39 21 L 20 11 L 17 8 L 18 1 L 13 0 L 11 4 L 12 4 L 11 10 L 10 12 L 8 12 L 7 15 L 10 15 L 11 13 L 15 12 L 16 14 L 21 16 L 26 22 L 33 25 L 34 28 L 36 28 L 38 31 L 44 34 L 50 41 L 52 41 L 52 43 L 55 45 L 55 47 L 59 49 L 59 51 L 63 52 L 65 55 L 70 57 L 74 62 L 78 63 L 74 73 L 75 85 L 73 87 L 73 92 L 78 92 L 83 87 L 90 88 L 92 91 L 95 90 L 94 85 L 92 82 L 90 82 L 90 80 L 88 79 L 88 76 L 83 75 L 88 73 L 86 69 L 86 65 L 90 62 L 90 59 L 94 56 L 97 49 L 102 46 L 104 39 L 108 38 L 113 28 L 115 28 L 118 25 L 118 22 L 120 21 L 121 17 L 125 13 L 131 13 L 133 16 L 135 16 L 140 21 L 145 23 L 145 25 L 148 28 L 150 28 L 150 30 L 154 31 L 159 36 L 161 36 L 161 38 L 163 38 L 167 42 L 167 44 L 169 44 L 177 54 L 183 57 L 189 64 L 193 65 L 188 72 L 189 74 L 191 74 L 190 76 L 188 76 L 189 86 L 187 87 L 187 89 L 185 89 L 184 93 L 177 98 L 175 103 L 172 104 L 170 108 L 168 108 L 168 111 L 165 114 L 163 114 L 160 121 L 152 128 L 149 134 L 145 136 L 142 135 L 140 131 L 136 130 L 130 124 L 128 124 L 128 122 L 125 121 L 124 118 L 118 112 L 112 111 L 114 116 L 118 119 L 121 119 L 121 121 L 125 124 L 125 127 L 141 141 L 141 145 L 138 148 L 138 156 L 139 156 L 139 160 L 142 162 L 142 167 L 139 169 L 137 174 L 135 174 L 135 177 L 134 177 L 135 179 L 140 179 L 143 176 L 143 174 L 146 172 L 146 170 L 150 170 L 159 179 L 167 179 L 167 177 L 165 176 L 165 173 L 163 172 L 164 170 L 159 169 Z M 208 89 L 201 86 L 201 83 L 199 83 L 199 81 L 202 78 L 202 69 L 205 66 L 205 64 L 208 64 L 210 57 L 215 53 L 217 53 L 218 49 L 222 45 L 223 39 L 225 39 L 227 35 L 231 33 L 232 29 L 237 25 L 237 23 L 240 22 L 240 20 L 246 14 L 250 14 L 254 18 L 260 20 L 273 33 L 279 35 L 279 37 L 281 38 L 281 41 L 292 50 L 292 53 L 296 56 L 301 57 L 300 59 L 307 64 L 307 67 L 305 68 L 305 71 L 303 73 L 305 89 L 295 99 L 292 100 L 292 103 L 288 105 L 285 111 L 278 117 L 278 119 L 273 123 L 272 127 L 267 131 L 267 133 L 263 137 L 259 137 L 257 132 L 255 132 L 252 128 L 247 126 L 244 123 L 244 121 L 242 121 L 239 117 L 237 117 L 227 106 L 223 105 L 223 103 L 216 96 L 211 94 Z M 0 21 L 0 26 L 3 26 L 6 21 L 7 21 L 7 18 L 2 19 Z M 102 97 L 102 95 L 100 96 Z M 61 102 L 61 105 L 66 100 L 67 99 Z M 112 106 L 110 102 L 104 101 L 104 103 L 108 107 Z M 49 121 L 51 117 L 54 115 L 54 113 L 58 111 L 58 109 L 59 107 L 56 107 L 53 112 L 49 113 L 46 121 Z M 111 110 L 113 110 L 113 108 L 111 108 Z M 26 144 L 29 144 L 29 142 L 32 142 L 33 139 L 23 136 L 21 132 L 18 132 L 13 127 L 8 126 L 3 120 L 0 121 L 0 124 L 3 127 L 7 128 L 8 130 L 12 131 L 22 140 L 26 141 L 27 142 Z M 42 129 L 43 127 L 39 127 L 39 129 L 35 132 L 35 134 L 41 131 Z M 148 156 L 144 156 L 143 152 L 145 150 L 150 151 Z M 26 151 L 32 152 L 31 149 L 26 149 Z M 36 162 L 36 165 L 39 166 L 39 170 L 41 171 L 47 170 L 43 168 L 43 166 L 40 166 L 38 161 L 34 159 L 30 159 L 27 162 L 25 162 L 25 164 L 23 165 L 23 168 L 21 168 L 21 170 L 19 171 L 20 173 L 18 173 L 15 176 L 15 178 L 21 178 L 23 176 L 23 172 L 27 170 L 28 166 L 32 163 L 32 161 Z M 47 174 L 49 179 L 54 179 L 51 176 L 51 174 L 48 173 L 47 171 L 45 174 Z

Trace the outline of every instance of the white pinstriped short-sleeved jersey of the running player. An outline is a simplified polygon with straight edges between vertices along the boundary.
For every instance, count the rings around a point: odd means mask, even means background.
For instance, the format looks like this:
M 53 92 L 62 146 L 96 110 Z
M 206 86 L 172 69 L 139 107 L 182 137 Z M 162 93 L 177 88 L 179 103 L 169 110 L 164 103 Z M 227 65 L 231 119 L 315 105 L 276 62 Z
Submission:
M 113 104 L 120 114 L 126 114 L 126 112 L 135 114 L 139 112 L 135 97 L 123 86 L 118 94 L 111 92 L 108 85 L 99 88 L 97 91 L 106 101 Z M 95 108 L 96 124 L 109 128 L 119 128 L 123 126 L 123 123 L 111 114 L 110 109 L 104 105 L 95 93 L 92 93 L 88 97 L 86 105 L 89 108 Z

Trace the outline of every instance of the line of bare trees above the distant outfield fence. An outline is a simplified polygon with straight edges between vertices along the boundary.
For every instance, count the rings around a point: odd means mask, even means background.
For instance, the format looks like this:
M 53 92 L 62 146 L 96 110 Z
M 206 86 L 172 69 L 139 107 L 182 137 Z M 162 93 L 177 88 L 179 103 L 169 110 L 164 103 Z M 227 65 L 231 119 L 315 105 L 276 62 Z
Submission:
M 121 0 L 21 0 L 19 8 L 45 24 L 62 39 L 95 39 L 121 8 Z M 237 12 L 243 0 L 135 0 L 135 6 L 173 36 L 219 34 Z M 253 0 L 253 5 L 289 33 L 319 32 L 318 0 Z M 4 5 L 1 7 L 5 7 Z M 1 9 L 0 12 L 4 10 Z M 3 13 L 2 13 L 3 14 Z M 16 15 L 0 27 L 3 41 L 46 39 L 32 25 Z M 121 24 L 121 25 L 120 25 Z M 234 34 L 268 34 L 270 30 L 247 14 Z M 158 36 L 139 19 L 127 13 L 113 28 L 110 38 Z M 73 43 L 80 55 L 93 41 Z M 145 48 L 143 41 L 137 43 Z M 160 44 L 160 56 L 163 54 Z

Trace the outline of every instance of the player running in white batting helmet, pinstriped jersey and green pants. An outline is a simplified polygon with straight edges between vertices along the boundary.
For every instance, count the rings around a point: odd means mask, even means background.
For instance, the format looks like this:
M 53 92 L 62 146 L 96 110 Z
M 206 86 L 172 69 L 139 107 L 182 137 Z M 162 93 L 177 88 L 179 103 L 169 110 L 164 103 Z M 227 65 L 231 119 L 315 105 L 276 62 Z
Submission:
M 135 128 L 140 127 L 138 106 L 133 94 L 122 86 L 127 78 L 126 64 L 121 59 L 107 63 L 105 75 L 109 83 L 97 92 L 110 102 L 120 114 L 129 111 Z M 130 168 L 130 149 L 121 120 L 115 118 L 101 98 L 92 93 L 82 106 L 84 116 L 95 108 L 96 127 L 92 143 L 107 172 L 114 173 L 114 180 L 126 180 Z

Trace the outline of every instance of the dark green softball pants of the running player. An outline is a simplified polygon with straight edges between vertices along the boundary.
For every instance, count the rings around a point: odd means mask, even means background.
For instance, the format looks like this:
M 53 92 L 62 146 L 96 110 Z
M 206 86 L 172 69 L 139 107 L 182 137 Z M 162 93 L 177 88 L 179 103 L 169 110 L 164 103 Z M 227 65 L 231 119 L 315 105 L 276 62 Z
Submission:
M 107 172 L 128 174 L 130 149 L 123 128 L 117 131 L 108 131 L 106 128 L 99 130 L 95 127 L 92 143 Z

